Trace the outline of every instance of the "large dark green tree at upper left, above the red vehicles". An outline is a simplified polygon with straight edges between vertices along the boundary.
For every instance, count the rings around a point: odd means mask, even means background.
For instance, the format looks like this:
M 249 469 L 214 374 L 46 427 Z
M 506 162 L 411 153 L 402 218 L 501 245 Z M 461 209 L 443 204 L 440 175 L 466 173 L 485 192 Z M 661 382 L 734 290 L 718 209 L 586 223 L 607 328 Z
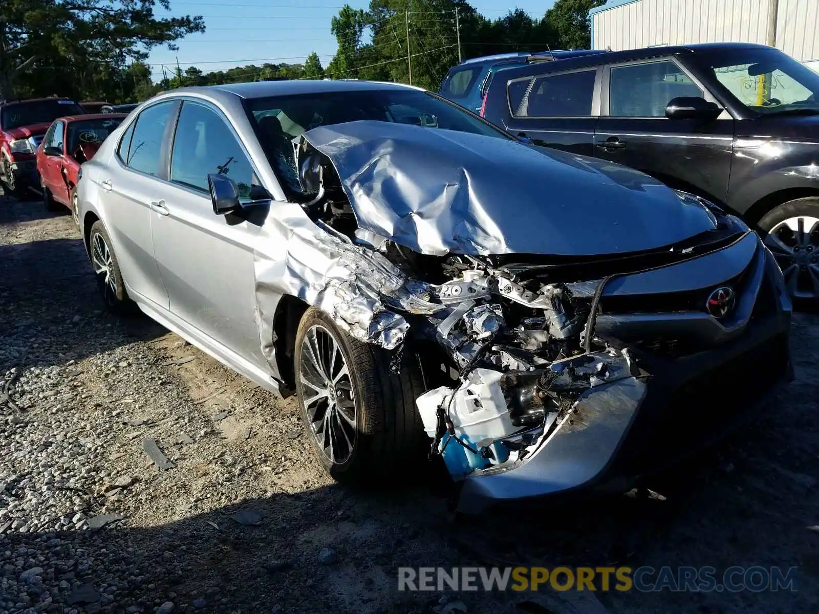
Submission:
M 0 8 L 0 97 L 81 93 L 147 58 L 152 47 L 203 32 L 201 16 L 154 16 L 169 0 L 3 0 Z M 115 92 L 117 88 L 114 87 Z M 84 93 L 84 92 L 82 92 Z

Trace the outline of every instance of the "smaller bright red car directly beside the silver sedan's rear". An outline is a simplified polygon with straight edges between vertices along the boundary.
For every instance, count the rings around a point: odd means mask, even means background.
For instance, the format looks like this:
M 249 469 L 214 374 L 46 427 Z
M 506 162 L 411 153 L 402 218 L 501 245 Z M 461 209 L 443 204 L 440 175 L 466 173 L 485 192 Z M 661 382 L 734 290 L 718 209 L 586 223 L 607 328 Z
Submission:
M 76 115 L 54 120 L 37 149 L 43 202 L 48 210 L 65 205 L 77 220 L 74 188 L 79 166 L 91 160 L 102 142 L 127 115 L 104 113 Z

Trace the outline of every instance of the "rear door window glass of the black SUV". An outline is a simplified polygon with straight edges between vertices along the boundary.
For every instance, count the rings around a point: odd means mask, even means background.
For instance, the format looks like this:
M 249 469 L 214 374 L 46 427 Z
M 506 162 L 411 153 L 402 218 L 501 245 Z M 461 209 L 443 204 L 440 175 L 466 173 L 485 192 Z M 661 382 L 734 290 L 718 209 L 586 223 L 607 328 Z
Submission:
M 538 77 L 518 117 L 590 117 L 596 76 L 595 69 Z

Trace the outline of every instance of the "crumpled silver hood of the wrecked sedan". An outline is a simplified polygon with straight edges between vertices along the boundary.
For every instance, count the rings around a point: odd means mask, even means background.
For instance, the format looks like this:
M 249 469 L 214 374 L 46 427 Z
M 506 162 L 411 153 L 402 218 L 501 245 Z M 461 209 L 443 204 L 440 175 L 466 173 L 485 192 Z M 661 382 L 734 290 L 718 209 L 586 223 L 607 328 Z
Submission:
M 699 202 L 604 160 L 370 120 L 302 137 L 332 161 L 360 228 L 423 254 L 617 254 L 715 228 Z

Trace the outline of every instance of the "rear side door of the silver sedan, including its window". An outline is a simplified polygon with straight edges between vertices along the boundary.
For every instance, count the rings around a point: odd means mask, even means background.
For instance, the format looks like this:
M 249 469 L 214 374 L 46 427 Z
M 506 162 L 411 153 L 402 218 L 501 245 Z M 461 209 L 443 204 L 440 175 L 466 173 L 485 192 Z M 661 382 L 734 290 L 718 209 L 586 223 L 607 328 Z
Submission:
M 102 215 L 114 242 L 117 260 L 134 300 L 168 309 L 151 237 L 152 207 L 165 183 L 165 142 L 173 128 L 177 101 L 147 106 L 120 138 L 117 151 L 99 176 Z

